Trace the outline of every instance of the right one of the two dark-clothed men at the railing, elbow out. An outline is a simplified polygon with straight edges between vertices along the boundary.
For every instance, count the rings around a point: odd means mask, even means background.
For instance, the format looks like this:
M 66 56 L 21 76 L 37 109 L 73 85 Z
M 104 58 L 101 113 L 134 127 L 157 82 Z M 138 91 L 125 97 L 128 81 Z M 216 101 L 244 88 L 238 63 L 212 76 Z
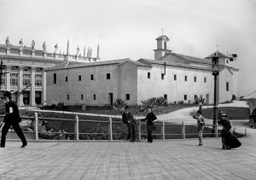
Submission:
M 152 131 L 156 130 L 154 121 L 157 120 L 155 114 L 152 111 L 152 107 L 148 107 L 148 114 L 142 121 L 147 121 L 147 131 L 148 131 L 148 142 L 153 142 Z

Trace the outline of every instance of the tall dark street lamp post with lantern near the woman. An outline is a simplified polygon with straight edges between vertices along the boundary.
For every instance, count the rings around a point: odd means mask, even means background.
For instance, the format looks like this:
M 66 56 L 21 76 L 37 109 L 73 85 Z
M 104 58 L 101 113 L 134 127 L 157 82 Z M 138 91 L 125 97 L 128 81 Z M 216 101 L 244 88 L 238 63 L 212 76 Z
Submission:
M 212 75 L 214 76 L 214 104 L 213 104 L 213 126 L 212 126 L 212 133 L 216 133 L 218 130 L 216 128 L 217 119 L 216 119 L 216 104 L 217 104 L 217 77 L 218 77 L 218 51 L 212 56 Z

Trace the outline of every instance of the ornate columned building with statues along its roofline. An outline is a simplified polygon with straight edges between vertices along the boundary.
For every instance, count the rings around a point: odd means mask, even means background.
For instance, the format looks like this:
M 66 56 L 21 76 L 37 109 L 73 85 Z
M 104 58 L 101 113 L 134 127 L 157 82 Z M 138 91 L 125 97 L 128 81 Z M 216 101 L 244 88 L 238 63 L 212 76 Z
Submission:
M 26 47 L 19 42 L 15 46 L 9 43 L 6 38 L 5 44 L 0 44 L 1 66 L 1 91 L 12 92 L 13 99 L 19 106 L 38 106 L 46 104 L 46 72 L 49 67 L 63 64 L 66 61 L 96 62 L 99 60 L 99 46 L 97 57 L 91 57 L 91 49 L 87 55 L 79 54 L 79 47 L 76 55 L 69 55 L 69 41 L 67 42 L 67 54 L 57 53 L 58 45 L 55 45 L 55 52 L 48 53 L 44 42 L 43 49 L 35 49 L 35 42 Z M 50 92 L 49 92 L 50 93 Z

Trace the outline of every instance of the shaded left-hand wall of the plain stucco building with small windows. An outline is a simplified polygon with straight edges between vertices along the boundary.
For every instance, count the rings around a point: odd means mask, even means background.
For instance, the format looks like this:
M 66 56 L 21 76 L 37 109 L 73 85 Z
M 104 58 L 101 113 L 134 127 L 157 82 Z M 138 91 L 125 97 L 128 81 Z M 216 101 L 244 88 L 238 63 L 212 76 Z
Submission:
M 57 73 L 57 84 L 53 84 L 53 73 Z M 107 73 L 110 73 L 110 79 L 106 78 Z M 93 80 L 90 80 L 90 74 L 93 74 Z M 79 81 L 79 75 L 81 75 L 81 81 Z M 65 82 L 66 76 L 67 82 Z M 48 105 L 58 102 L 64 102 L 65 105 L 105 105 L 110 103 L 109 93 L 113 93 L 113 102 L 118 97 L 118 67 L 114 64 L 49 71 L 47 84 Z M 67 94 L 70 96 L 69 100 L 67 100 Z M 83 100 L 81 95 L 84 96 Z M 96 100 L 93 95 L 96 95 Z

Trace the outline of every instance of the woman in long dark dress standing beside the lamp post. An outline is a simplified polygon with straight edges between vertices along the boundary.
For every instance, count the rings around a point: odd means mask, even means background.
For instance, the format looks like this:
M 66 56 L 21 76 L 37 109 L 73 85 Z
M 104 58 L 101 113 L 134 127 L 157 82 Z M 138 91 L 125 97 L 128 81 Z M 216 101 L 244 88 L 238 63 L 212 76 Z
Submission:
M 223 125 L 223 129 L 221 131 L 223 149 L 238 148 L 241 146 L 241 142 L 239 142 L 238 139 L 230 132 L 232 125 L 227 119 L 226 114 L 223 113 L 221 119 L 218 119 L 218 125 Z

